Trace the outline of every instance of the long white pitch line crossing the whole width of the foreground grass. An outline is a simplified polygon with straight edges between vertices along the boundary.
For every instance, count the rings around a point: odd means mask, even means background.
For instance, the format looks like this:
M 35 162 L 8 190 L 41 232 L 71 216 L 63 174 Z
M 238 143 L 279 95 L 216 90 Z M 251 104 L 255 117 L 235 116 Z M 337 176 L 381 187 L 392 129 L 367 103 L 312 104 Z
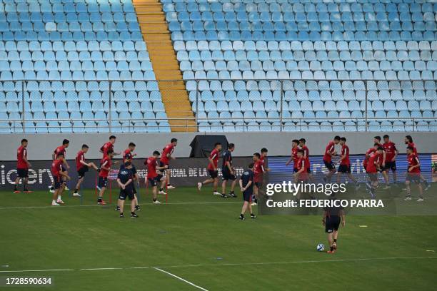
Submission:
M 352 259 L 338 260 L 296 260 L 282 262 L 229 262 L 223 264 L 198 264 L 198 265 L 169 265 L 169 266 L 150 266 L 150 267 L 100 267 L 100 268 L 84 268 L 84 269 L 44 269 L 44 270 L 0 270 L 0 272 L 55 272 L 55 271 L 84 271 L 84 270 L 134 270 L 134 269 L 156 269 L 169 267 L 222 267 L 222 266 L 245 266 L 245 265 L 286 265 L 286 264 L 306 264 L 313 262 L 360 262 L 372 260 L 421 260 L 421 259 L 437 259 L 437 256 L 426 257 L 358 257 Z

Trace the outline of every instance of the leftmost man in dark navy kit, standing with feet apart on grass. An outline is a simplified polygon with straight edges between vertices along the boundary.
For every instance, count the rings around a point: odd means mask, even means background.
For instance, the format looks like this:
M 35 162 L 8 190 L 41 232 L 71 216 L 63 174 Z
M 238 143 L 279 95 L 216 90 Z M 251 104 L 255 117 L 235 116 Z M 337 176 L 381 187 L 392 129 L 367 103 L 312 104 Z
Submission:
M 131 162 L 124 163 L 124 167 L 119 170 L 117 176 L 117 183 L 120 186 L 119 206 L 120 206 L 120 218 L 124 218 L 124 200 L 129 197 L 131 200 L 131 218 L 138 218 L 135 213 L 136 197 L 134 194 L 134 172 L 132 170 Z

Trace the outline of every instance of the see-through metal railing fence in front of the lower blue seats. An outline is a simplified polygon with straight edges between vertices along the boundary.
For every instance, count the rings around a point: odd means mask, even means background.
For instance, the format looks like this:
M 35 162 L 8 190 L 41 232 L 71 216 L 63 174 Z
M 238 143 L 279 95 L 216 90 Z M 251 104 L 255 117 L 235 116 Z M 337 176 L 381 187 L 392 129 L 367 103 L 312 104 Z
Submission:
M 34 88 L 29 86 L 31 82 Z M 69 82 L 70 88 L 64 86 L 66 82 Z M 90 82 L 94 82 L 93 86 L 90 86 Z M 126 82 L 132 83 L 127 86 Z M 433 79 L 196 79 L 184 80 L 186 91 L 183 92 L 167 87 L 166 82 L 175 80 L 1 80 L 3 91 L 0 93 L 4 93 L 5 97 L 4 100 L 0 98 L 0 101 L 6 103 L 7 107 L 5 110 L 0 106 L 0 115 L 6 112 L 9 118 L 0 117 L 0 133 L 168 132 L 176 129 L 221 131 L 223 128 L 226 131 L 228 127 L 232 128 L 231 131 L 373 131 L 384 127 L 393 131 L 437 131 L 437 91 L 436 80 Z M 424 86 L 426 82 L 433 86 Z M 186 117 L 187 111 L 181 109 L 173 110 L 171 117 L 166 118 L 164 113 L 161 113 L 158 117 L 151 118 L 151 114 L 146 112 L 168 112 L 169 108 L 159 107 L 161 97 L 157 93 L 152 93 L 154 91 L 146 90 L 148 84 L 155 89 L 159 84 L 159 91 L 170 91 L 171 98 L 181 103 L 187 103 L 188 92 L 190 116 Z M 51 85 L 51 88 L 45 88 L 46 85 Z M 68 97 L 69 91 L 75 91 L 77 98 Z M 86 91 L 85 97 L 80 96 L 81 91 Z M 94 91 L 99 94 L 91 96 Z M 135 93 L 129 93 L 131 91 Z M 61 98 L 55 98 L 56 93 Z M 141 97 L 141 94 L 144 96 Z M 152 94 L 154 96 L 151 96 Z M 420 97 L 416 103 L 415 99 L 411 98 L 415 94 Z M 56 107 L 41 108 L 42 101 L 51 101 Z M 94 104 L 91 103 L 96 101 L 101 103 L 92 107 Z M 353 108 L 348 107 L 352 104 L 351 101 L 355 101 Z M 375 101 L 393 103 L 390 104 L 391 108 L 388 108 L 390 110 L 384 108 L 382 103 L 378 103 L 380 108 L 375 110 L 371 107 L 376 106 Z M 408 105 L 408 101 L 412 102 Z M 419 101 L 428 104 L 428 110 L 421 110 Z M 33 102 L 38 106 L 34 106 Z M 89 102 L 87 105 L 91 105 L 91 108 L 81 108 L 82 102 Z M 61 106 L 58 103 L 61 103 Z M 69 103 L 73 105 L 70 106 Z M 219 103 L 224 107 L 217 108 Z M 331 107 L 327 106 L 328 103 Z M 399 108 L 403 105 L 405 108 Z M 417 108 L 411 107 L 415 105 Z M 71 118 L 62 117 L 67 116 L 62 112 L 62 108 L 66 108 Z M 77 118 L 78 108 L 79 113 L 84 113 L 81 118 Z M 329 108 L 335 110 L 329 112 Z M 50 118 L 50 114 L 46 115 L 47 118 L 37 118 L 33 113 L 39 111 L 45 114 L 56 112 L 59 118 Z M 130 111 L 132 118 L 123 117 L 122 111 Z M 398 115 L 400 111 L 413 114 L 411 117 L 401 117 Z M 423 111 L 429 111 L 431 114 L 423 114 Z M 218 115 L 221 112 L 224 114 Z M 351 116 L 351 112 L 355 116 Z M 378 116 L 382 112 L 384 115 L 390 113 L 388 115 L 393 117 Z M 89 118 L 94 115 L 95 118 Z

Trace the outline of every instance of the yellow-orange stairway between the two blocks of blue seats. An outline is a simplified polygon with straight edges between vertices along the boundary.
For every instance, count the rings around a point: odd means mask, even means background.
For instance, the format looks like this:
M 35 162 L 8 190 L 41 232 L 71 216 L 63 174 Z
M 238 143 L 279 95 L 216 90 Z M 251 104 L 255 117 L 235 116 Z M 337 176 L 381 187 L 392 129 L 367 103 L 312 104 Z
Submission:
M 169 120 L 171 131 L 196 131 L 195 121 L 189 120 L 193 118 L 193 111 L 191 111 L 185 83 L 182 81 L 162 5 L 159 0 L 134 0 L 133 4 L 141 33 L 149 49 L 149 56 L 167 116 L 168 118 L 185 118 L 181 121 Z

